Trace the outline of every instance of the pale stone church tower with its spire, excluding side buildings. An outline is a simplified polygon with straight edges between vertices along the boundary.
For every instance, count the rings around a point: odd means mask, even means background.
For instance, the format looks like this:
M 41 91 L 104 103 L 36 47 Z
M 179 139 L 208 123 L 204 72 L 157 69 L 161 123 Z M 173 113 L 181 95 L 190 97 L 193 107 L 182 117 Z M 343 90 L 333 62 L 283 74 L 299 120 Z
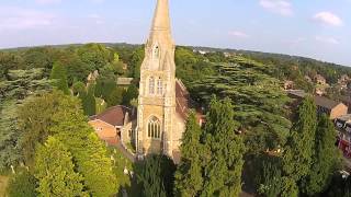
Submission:
M 157 0 L 140 68 L 135 136 L 138 154 L 172 157 L 172 132 L 177 125 L 174 50 L 168 0 Z

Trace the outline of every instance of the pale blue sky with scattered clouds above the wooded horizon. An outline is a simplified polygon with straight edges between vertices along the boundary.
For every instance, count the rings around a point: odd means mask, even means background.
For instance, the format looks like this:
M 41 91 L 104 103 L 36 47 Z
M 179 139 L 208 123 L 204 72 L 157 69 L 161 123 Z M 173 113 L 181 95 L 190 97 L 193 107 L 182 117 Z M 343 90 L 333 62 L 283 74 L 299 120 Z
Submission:
M 351 66 L 351 0 L 169 0 L 178 45 Z M 156 0 L 0 0 L 0 48 L 146 42 Z

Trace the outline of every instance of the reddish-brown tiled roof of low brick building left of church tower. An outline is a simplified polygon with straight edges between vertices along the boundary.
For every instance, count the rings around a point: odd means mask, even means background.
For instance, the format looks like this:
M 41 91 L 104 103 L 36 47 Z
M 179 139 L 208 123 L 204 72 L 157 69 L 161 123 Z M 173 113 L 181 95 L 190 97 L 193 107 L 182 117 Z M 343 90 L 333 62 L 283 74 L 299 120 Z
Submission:
M 91 120 L 101 120 L 104 123 L 107 123 L 112 126 L 115 127 L 121 127 L 124 126 L 124 118 L 126 113 L 129 113 L 131 115 L 131 108 L 126 107 L 126 106 L 122 106 L 122 105 L 117 105 L 117 106 L 113 106 L 107 108 L 105 112 L 103 112 L 102 114 L 92 116 L 90 119 Z

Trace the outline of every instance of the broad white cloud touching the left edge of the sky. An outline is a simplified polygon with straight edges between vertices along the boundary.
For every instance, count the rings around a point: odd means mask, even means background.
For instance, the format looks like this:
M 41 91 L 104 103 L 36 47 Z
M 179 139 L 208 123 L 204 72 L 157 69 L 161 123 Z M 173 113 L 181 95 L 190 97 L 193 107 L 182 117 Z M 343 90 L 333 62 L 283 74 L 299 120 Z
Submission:
M 53 24 L 53 14 L 16 7 L 0 7 L 0 31 L 29 30 Z

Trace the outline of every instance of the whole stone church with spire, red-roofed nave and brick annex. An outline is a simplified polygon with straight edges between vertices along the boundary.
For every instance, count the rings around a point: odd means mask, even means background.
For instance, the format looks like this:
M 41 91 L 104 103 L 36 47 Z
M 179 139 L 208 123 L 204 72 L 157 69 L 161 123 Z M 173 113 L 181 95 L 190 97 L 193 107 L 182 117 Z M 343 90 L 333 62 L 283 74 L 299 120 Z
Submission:
M 137 155 L 162 153 L 179 161 L 190 97 L 176 79 L 174 51 L 169 2 L 158 0 L 140 68 L 138 107 L 115 106 L 92 117 L 100 138 L 116 142 L 116 136 L 123 146 L 133 144 Z

